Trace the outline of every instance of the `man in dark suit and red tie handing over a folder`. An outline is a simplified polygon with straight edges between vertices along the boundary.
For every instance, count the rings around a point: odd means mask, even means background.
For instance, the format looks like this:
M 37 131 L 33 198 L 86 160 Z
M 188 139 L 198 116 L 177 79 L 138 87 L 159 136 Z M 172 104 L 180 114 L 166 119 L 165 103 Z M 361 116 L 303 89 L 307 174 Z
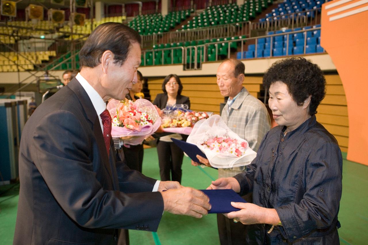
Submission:
M 14 244 L 116 244 L 118 228 L 156 231 L 163 211 L 206 214 L 203 192 L 113 159 L 105 102 L 124 99 L 137 81 L 138 33 L 102 24 L 79 57 L 81 72 L 24 127 Z

